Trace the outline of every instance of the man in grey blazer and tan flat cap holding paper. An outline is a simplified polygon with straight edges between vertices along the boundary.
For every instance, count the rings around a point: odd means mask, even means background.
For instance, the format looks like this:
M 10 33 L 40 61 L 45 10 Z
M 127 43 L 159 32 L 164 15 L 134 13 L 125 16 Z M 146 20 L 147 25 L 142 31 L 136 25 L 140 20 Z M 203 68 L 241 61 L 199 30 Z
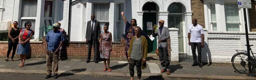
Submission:
M 161 62 L 161 66 L 163 69 L 161 70 L 161 73 L 166 72 L 167 75 L 170 75 L 170 61 L 169 61 L 169 55 L 168 55 L 168 49 L 167 49 L 167 39 L 170 38 L 170 34 L 168 31 L 168 27 L 164 27 L 164 20 L 160 20 L 158 22 L 159 28 L 157 29 L 155 33 L 155 26 L 152 30 L 153 37 L 158 36 L 158 52 L 159 52 L 159 60 Z

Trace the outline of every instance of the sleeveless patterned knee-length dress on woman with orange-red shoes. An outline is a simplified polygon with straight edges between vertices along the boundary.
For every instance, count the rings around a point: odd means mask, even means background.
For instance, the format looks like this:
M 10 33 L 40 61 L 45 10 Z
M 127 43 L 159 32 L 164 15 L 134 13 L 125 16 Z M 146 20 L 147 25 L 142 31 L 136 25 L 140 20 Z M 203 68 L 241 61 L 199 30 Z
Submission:
M 109 59 L 110 50 L 111 50 L 110 33 L 107 33 L 107 34 L 103 33 L 100 58 Z

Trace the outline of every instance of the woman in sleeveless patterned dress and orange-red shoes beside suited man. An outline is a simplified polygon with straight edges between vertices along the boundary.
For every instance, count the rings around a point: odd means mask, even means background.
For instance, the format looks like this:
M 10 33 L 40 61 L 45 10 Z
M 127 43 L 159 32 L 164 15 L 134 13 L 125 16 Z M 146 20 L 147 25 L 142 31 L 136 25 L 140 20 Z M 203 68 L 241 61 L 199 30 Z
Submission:
M 107 70 L 106 61 L 108 63 L 108 71 L 111 72 L 111 69 L 109 68 L 109 62 L 110 62 L 110 52 L 112 51 L 112 34 L 111 32 L 108 32 L 108 26 L 109 23 L 105 23 L 104 25 L 104 33 L 100 34 L 100 58 L 103 59 L 104 62 L 104 69 L 103 71 Z

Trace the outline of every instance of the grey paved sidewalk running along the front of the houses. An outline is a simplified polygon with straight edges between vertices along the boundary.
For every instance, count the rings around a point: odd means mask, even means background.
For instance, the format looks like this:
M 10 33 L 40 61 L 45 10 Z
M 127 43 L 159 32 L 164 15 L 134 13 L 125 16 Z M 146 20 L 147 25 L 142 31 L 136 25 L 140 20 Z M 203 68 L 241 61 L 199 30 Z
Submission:
M 46 74 L 46 59 L 27 59 L 25 66 L 18 67 L 20 61 L 4 62 L 0 59 L 0 72 L 8 73 L 40 73 Z M 252 79 L 245 74 L 235 73 L 231 64 L 211 64 L 203 65 L 203 68 L 191 66 L 192 63 L 171 63 L 171 75 L 160 73 L 161 65 L 157 62 L 148 62 L 147 68 L 142 70 L 143 77 L 162 76 L 177 78 L 195 78 L 195 79 Z M 78 74 L 78 75 L 104 75 L 104 76 L 124 76 L 129 77 L 129 68 L 127 61 L 111 61 L 110 68 L 112 72 L 103 71 L 103 62 L 86 63 L 86 60 L 63 60 L 59 61 L 59 74 Z M 135 67 L 135 76 L 137 71 Z

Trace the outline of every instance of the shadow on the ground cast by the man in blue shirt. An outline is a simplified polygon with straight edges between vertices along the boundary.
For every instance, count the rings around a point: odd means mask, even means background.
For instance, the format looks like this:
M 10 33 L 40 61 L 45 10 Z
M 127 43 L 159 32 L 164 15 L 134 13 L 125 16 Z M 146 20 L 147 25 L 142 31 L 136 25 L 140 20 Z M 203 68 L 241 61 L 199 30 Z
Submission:
M 65 71 L 65 72 L 63 72 L 63 73 L 60 73 L 60 74 L 58 75 L 58 77 L 70 76 L 70 75 L 74 75 L 74 74 L 76 74 L 76 73 L 83 72 L 83 71 L 86 71 L 86 68 L 68 70 L 68 71 Z

